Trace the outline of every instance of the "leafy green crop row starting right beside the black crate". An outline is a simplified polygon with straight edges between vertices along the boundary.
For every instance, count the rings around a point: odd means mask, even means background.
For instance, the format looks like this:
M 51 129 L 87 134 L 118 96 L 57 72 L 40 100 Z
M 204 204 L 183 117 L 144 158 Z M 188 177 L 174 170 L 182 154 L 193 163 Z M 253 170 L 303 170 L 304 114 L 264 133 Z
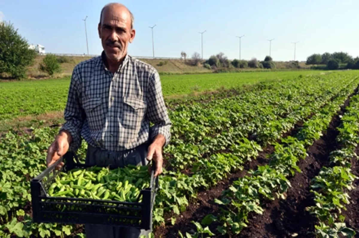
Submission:
M 340 84 L 340 81 L 334 84 L 337 90 L 334 94 L 347 95 L 348 91 L 352 91 L 353 86 L 358 84 L 358 80 L 351 81 L 349 86 L 344 86 L 344 91 L 341 91 L 339 87 Z M 305 113 L 301 116 L 305 118 L 320 107 L 321 104 L 316 105 L 314 103 L 313 107 L 308 107 L 303 110 Z M 298 116 L 296 118 L 298 118 Z M 300 119 L 302 118 L 299 117 L 297 120 Z M 297 123 L 297 120 L 292 119 L 290 124 L 283 123 L 280 124 L 281 126 L 276 125 L 272 127 L 271 131 L 276 139 L 284 132 L 290 130 L 290 128 Z M 258 156 L 261 147 L 256 142 L 248 140 L 242 133 L 236 133 L 236 131 L 230 132 L 233 134 L 222 134 L 223 139 L 231 145 L 227 153 L 216 153 L 209 156 L 206 160 L 198 160 L 193 165 L 192 174 L 190 175 L 171 171 L 161 177 L 161 189 L 156 196 L 155 221 L 164 222 L 163 212 L 173 211 L 175 214 L 179 214 L 180 211 L 185 210 L 188 205 L 188 197 L 195 198 L 199 189 L 208 189 L 219 180 L 222 180 L 228 173 L 241 169 L 243 164 Z

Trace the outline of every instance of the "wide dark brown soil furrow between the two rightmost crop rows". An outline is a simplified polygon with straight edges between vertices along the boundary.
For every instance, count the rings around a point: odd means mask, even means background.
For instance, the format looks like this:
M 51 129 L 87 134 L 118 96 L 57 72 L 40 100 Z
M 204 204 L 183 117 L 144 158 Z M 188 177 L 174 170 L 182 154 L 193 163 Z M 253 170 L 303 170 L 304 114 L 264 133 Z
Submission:
M 349 99 L 344 107 L 348 105 Z M 315 205 L 310 193 L 310 181 L 322 166 L 328 165 L 330 152 L 339 147 L 335 140 L 339 134 L 336 127 L 340 125 L 339 115 L 344 113 L 344 107 L 332 118 L 326 133 L 309 147 L 307 158 L 299 162 L 302 173 L 290 178 L 292 187 L 286 193 L 287 198 L 265 204 L 263 215 L 251 214 L 249 226 L 238 237 L 292 237 L 293 234 L 313 237 L 317 219 L 305 210 Z

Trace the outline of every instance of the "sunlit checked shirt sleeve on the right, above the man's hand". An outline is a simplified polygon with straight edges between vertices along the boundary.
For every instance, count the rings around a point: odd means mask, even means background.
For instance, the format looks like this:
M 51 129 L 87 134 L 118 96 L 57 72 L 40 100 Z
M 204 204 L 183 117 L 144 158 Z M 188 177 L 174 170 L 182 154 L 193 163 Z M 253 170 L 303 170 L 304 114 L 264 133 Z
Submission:
M 150 139 L 161 134 L 165 137 L 167 145 L 171 139 L 171 121 L 162 95 L 161 81 L 157 71 L 149 79 L 147 96 L 147 117 L 154 125 L 150 128 Z

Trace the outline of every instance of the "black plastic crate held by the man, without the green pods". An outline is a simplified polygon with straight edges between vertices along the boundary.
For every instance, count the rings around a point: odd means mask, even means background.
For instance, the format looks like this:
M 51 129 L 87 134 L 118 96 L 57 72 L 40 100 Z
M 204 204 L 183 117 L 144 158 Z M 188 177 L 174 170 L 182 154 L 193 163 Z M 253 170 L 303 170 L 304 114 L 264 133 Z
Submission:
M 76 162 L 74 161 L 76 159 Z M 62 159 L 65 166 L 55 170 Z M 154 179 L 154 169 L 151 172 L 150 188 L 140 191 L 142 202 L 121 202 L 97 199 L 51 197 L 48 188 L 54 182 L 60 171 L 74 168 L 87 168 L 81 164 L 73 152 L 67 152 L 61 160 L 48 167 L 36 178 L 31 180 L 31 198 L 33 221 L 36 223 L 64 224 L 101 224 L 118 227 L 136 227 L 149 230 L 152 228 L 152 210 L 158 189 L 158 176 Z M 115 169 L 116 167 L 109 167 Z

